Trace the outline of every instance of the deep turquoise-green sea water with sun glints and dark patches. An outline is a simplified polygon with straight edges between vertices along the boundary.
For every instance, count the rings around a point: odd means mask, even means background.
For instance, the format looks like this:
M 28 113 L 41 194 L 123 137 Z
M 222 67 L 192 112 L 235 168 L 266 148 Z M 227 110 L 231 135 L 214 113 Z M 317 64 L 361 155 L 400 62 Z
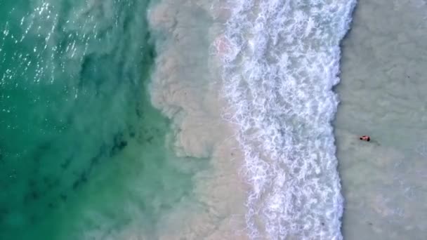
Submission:
M 145 91 L 149 5 L 0 2 L 0 239 L 155 234 L 188 196 Z

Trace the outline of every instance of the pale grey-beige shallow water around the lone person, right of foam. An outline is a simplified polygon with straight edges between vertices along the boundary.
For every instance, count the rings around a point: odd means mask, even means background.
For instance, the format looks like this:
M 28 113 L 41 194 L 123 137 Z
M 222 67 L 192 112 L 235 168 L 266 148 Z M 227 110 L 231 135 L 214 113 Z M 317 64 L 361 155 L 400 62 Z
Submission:
M 342 43 L 344 239 L 426 239 L 426 15 L 421 0 L 361 0 Z

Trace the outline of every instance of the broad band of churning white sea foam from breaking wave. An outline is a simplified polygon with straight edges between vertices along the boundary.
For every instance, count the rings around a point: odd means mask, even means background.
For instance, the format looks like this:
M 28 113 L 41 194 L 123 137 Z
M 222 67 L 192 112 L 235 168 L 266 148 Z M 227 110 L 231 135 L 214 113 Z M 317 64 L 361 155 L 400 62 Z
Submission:
M 224 117 L 239 126 L 257 239 L 342 239 L 331 120 L 339 44 L 356 1 L 230 1 L 216 41 Z

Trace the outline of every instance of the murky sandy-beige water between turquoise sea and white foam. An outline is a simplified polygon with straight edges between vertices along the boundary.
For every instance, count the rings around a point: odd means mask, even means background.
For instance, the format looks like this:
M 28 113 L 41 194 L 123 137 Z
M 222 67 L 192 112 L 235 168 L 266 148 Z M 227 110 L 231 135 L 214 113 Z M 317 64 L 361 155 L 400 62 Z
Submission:
M 176 154 L 209 163 L 193 178 L 194 200 L 159 221 L 159 239 L 247 239 L 242 155 L 221 116 L 225 105 L 211 45 L 223 17 L 217 4 L 188 0 L 160 1 L 149 15 L 158 40 L 152 103 L 173 123 L 169 141 Z

